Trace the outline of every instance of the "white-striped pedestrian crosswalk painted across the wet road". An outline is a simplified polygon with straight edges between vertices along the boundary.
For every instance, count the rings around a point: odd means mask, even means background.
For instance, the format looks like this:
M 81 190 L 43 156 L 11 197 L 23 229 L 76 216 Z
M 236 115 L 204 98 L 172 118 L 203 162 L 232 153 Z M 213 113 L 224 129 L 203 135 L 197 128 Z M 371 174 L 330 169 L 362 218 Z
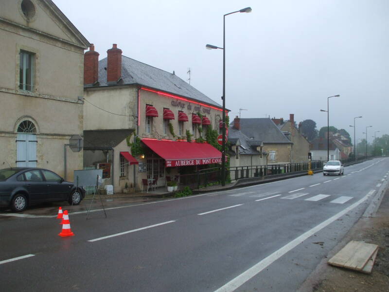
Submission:
M 270 198 L 277 198 L 277 199 L 283 199 L 283 200 L 295 200 L 299 199 L 302 201 L 311 201 L 311 202 L 317 202 L 324 199 L 333 199 L 331 201 L 326 200 L 326 202 L 334 203 L 334 204 L 344 204 L 345 202 L 348 202 L 354 197 L 349 196 L 338 196 L 338 195 L 326 195 L 326 194 L 318 194 L 309 196 L 309 193 L 294 193 L 290 195 L 280 194 L 281 192 L 244 192 L 244 193 L 237 193 L 237 194 L 231 194 L 230 197 L 241 197 L 247 195 L 248 197 L 253 198 L 264 198 L 256 201 L 263 201 Z M 276 195 L 277 194 L 277 195 Z M 274 196 L 276 195 L 276 196 Z M 265 198 L 266 197 L 266 198 Z M 303 198 L 302 198 L 303 197 Z

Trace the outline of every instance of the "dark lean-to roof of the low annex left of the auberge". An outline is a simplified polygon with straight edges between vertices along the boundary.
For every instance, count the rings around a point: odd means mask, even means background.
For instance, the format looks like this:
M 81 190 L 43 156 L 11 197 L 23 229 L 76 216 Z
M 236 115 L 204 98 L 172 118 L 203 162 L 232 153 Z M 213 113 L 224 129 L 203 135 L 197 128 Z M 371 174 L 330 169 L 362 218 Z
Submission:
M 86 130 L 84 131 L 85 150 L 109 150 L 132 134 L 134 130 Z

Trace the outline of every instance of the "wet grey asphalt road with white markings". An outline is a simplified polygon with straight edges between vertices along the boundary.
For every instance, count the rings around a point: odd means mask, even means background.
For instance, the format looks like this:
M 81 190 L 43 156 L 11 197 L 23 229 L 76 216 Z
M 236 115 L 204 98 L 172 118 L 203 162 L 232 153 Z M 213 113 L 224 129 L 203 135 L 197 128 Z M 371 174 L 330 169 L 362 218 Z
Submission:
M 388 170 L 374 159 L 341 177 L 71 214 L 73 237 L 55 218 L 0 216 L 0 291 L 296 291 Z

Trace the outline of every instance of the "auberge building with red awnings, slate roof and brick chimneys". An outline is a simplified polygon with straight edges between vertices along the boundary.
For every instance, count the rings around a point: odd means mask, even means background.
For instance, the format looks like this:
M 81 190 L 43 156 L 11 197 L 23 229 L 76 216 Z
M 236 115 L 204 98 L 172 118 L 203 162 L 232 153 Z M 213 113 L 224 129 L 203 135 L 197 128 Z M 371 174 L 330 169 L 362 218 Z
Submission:
M 85 53 L 84 129 L 132 129 L 126 152 L 138 162 L 131 160 L 131 164 L 128 155 L 113 158 L 120 162 L 113 166 L 120 173 L 112 182 L 115 192 L 126 183 L 140 189 L 142 180 L 164 186 L 166 180 L 179 180 L 181 173 L 195 171 L 199 165 L 221 162 L 220 151 L 195 142 L 205 140 L 207 130 L 220 131 L 221 105 L 174 72 L 122 55 L 116 44 L 107 50 L 106 58 L 98 61 L 98 57 L 93 45 Z M 115 155 L 123 152 L 122 148 Z M 90 164 L 84 161 L 84 166 Z

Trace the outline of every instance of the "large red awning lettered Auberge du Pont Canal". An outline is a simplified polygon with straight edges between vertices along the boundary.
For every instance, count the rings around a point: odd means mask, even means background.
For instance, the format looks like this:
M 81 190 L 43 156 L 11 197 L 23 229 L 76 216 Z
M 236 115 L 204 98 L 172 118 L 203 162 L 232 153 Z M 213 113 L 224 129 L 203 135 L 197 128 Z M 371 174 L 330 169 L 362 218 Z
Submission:
M 156 139 L 142 139 L 142 142 L 165 159 L 166 167 L 222 162 L 222 153 L 208 143 Z

